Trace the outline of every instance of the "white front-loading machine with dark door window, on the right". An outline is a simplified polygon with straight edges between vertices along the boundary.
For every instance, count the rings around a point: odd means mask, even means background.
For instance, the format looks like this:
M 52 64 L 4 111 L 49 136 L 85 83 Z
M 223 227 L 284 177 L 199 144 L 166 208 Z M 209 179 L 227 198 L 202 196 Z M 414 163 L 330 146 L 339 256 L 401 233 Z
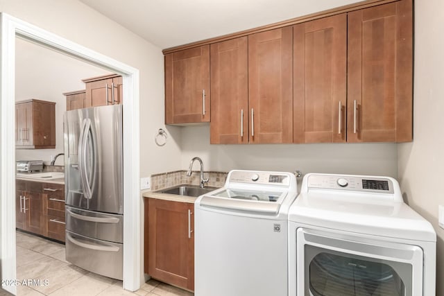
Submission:
M 289 211 L 289 296 L 435 295 L 436 233 L 391 177 L 307 174 Z

